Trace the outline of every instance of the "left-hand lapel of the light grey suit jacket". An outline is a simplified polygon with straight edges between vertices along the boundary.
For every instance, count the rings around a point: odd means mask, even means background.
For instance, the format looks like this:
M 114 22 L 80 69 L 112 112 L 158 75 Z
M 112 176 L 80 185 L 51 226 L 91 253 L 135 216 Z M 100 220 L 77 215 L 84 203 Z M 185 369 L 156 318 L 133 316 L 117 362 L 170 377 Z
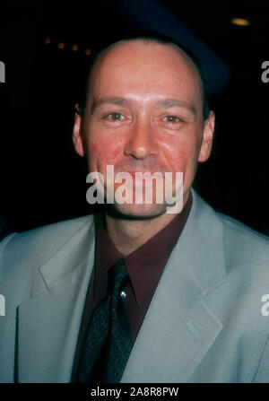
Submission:
M 19 382 L 70 380 L 93 261 L 90 219 L 40 266 L 39 295 L 20 305 L 18 312 Z

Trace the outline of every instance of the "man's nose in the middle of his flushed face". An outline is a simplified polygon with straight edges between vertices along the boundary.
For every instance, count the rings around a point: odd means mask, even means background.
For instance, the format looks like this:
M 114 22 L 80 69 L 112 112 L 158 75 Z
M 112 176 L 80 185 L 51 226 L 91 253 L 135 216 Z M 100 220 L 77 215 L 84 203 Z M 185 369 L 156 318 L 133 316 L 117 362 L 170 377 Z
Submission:
M 126 140 L 125 154 L 141 160 L 157 156 L 157 137 L 150 122 L 135 122 Z

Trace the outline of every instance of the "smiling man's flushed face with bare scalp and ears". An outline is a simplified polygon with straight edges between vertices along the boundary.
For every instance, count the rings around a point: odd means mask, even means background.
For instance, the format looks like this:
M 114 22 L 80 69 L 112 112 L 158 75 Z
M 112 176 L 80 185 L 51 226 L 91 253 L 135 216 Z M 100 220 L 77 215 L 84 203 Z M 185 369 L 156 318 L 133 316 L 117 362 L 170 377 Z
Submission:
M 94 65 L 83 118 L 74 124 L 77 153 L 104 177 L 107 165 L 134 173 L 183 172 L 184 203 L 197 161 L 210 155 L 213 112 L 204 122 L 199 75 L 173 46 L 133 40 L 110 48 Z M 119 184 L 115 184 L 117 189 Z M 175 182 L 173 184 L 175 189 Z M 135 187 L 134 192 L 135 192 Z M 156 194 L 155 194 L 156 196 Z M 124 204 L 122 214 L 153 217 L 166 205 Z

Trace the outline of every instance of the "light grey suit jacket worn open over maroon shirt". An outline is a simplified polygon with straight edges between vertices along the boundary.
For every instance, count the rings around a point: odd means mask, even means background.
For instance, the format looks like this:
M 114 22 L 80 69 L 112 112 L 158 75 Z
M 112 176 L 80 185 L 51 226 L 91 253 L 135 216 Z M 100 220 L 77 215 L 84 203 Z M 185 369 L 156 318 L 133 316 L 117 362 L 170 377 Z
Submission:
M 121 381 L 269 382 L 268 240 L 193 196 Z M 70 381 L 92 216 L 12 234 L 0 257 L 0 381 Z

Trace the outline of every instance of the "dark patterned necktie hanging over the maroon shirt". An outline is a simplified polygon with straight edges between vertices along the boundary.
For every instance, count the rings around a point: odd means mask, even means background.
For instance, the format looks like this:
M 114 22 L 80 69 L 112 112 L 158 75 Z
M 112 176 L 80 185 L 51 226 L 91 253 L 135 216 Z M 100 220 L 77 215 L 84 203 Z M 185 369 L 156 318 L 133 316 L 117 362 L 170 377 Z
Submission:
M 132 350 L 121 289 L 128 273 L 124 259 L 108 270 L 108 292 L 91 317 L 80 357 L 77 382 L 118 383 Z

